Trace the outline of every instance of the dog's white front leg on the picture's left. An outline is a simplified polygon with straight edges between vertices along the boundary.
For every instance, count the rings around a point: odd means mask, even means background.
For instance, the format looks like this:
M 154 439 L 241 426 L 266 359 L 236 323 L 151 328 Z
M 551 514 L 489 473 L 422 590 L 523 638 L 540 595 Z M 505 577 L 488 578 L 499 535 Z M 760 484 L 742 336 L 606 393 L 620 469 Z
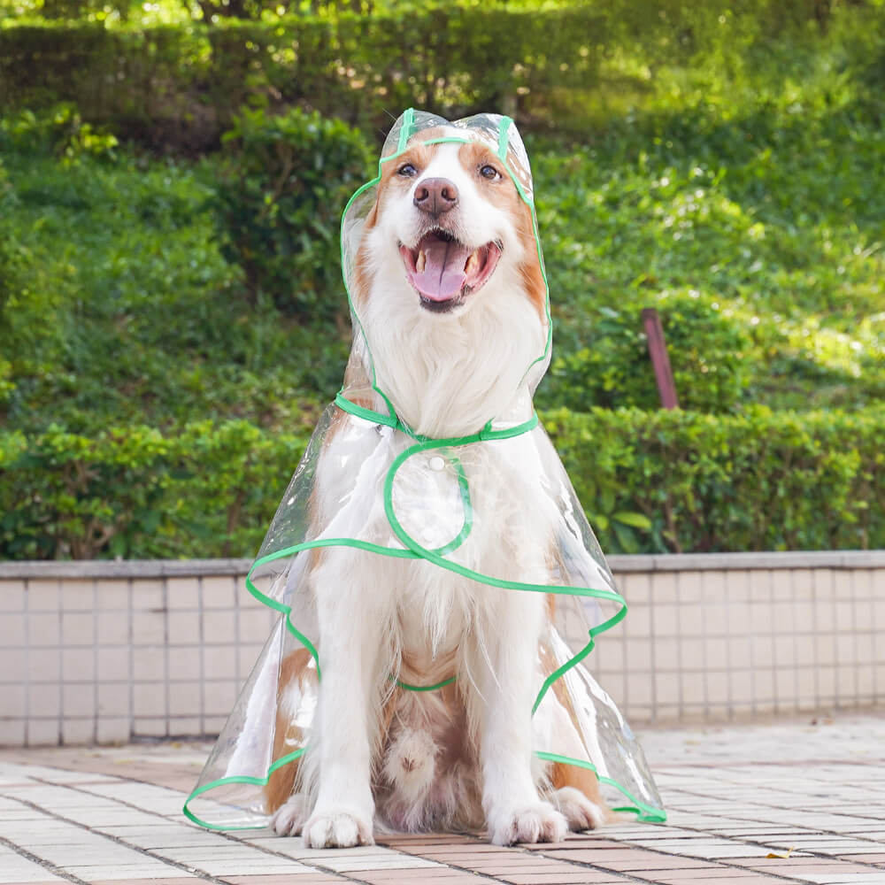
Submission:
M 373 843 L 370 782 L 383 610 L 365 556 L 336 550 L 314 575 L 321 681 L 311 760 L 317 800 L 304 824 L 309 848 Z

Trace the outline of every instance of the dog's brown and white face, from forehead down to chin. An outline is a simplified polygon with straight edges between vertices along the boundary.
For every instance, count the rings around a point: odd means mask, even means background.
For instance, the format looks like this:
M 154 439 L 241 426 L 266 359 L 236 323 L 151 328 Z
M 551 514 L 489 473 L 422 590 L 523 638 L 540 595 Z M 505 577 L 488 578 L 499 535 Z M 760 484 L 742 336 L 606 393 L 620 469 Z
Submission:
M 458 315 L 483 291 L 519 289 L 543 319 L 546 287 L 517 163 L 487 129 L 439 123 L 382 158 L 353 294 L 368 297 L 381 276 L 384 289 L 408 291 L 416 311 Z

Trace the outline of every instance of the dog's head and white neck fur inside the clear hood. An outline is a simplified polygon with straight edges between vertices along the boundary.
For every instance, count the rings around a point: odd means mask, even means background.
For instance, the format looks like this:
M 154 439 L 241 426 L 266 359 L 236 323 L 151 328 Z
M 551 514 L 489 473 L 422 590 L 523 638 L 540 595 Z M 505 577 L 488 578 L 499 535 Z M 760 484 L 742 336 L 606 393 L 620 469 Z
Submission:
M 481 416 L 481 427 L 534 389 L 549 359 L 531 175 L 510 124 L 405 114 L 344 213 L 355 352 L 421 433 L 443 433 L 443 418 L 475 429 Z

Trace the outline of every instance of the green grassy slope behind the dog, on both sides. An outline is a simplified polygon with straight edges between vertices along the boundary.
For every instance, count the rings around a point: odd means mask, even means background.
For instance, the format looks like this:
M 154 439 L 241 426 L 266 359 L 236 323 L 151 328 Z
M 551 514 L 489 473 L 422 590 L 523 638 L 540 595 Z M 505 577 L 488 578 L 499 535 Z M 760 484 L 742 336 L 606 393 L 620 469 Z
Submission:
M 648 306 L 686 407 L 885 395 L 881 10 L 691 65 L 612 55 L 622 89 L 568 96 L 581 135 L 528 139 L 557 322 L 539 404 L 656 407 Z M 312 424 L 348 332 L 244 295 L 206 209 L 218 158 L 32 135 L 0 134 L 0 421 Z

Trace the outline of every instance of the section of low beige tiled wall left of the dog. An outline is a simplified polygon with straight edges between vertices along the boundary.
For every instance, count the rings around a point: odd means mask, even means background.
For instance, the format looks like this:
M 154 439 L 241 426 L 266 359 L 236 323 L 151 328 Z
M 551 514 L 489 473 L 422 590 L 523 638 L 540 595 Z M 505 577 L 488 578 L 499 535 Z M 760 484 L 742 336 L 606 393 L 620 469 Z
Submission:
M 128 577 L 118 564 L 110 577 L 100 566 L 92 577 L 0 571 L 0 745 L 217 733 L 274 613 L 243 589 L 241 563 L 227 574 L 213 565 Z

